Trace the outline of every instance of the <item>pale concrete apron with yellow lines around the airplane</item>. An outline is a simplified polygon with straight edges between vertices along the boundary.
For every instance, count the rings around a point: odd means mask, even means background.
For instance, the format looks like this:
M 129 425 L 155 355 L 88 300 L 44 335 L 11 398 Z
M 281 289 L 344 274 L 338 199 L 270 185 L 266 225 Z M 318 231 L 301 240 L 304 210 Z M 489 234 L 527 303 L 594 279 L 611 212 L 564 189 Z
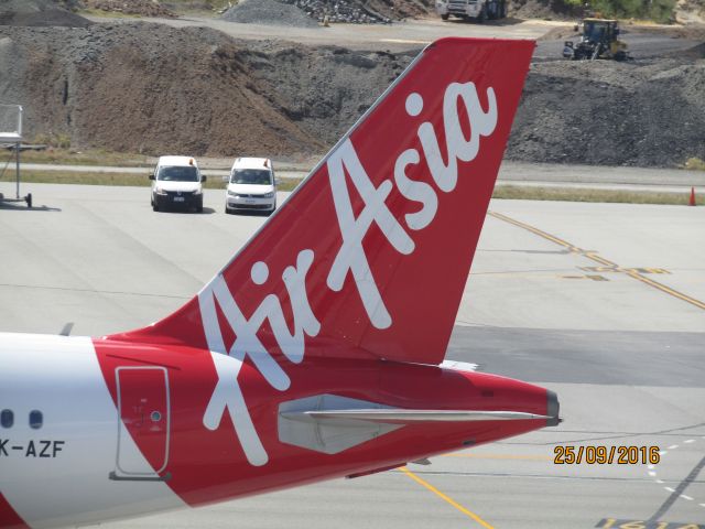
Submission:
M 58 333 L 74 322 L 73 334 L 101 335 L 150 323 L 265 220 L 225 215 L 221 191 L 206 191 L 203 215 L 153 213 L 147 188 L 24 191 L 35 209 L 0 206 L 0 331 Z M 705 523 L 705 208 L 492 201 L 490 209 L 448 357 L 555 390 L 560 427 L 410 472 L 104 527 Z M 565 446 L 661 455 L 651 466 L 555 464 Z M 651 526 L 623 525 L 638 520 Z

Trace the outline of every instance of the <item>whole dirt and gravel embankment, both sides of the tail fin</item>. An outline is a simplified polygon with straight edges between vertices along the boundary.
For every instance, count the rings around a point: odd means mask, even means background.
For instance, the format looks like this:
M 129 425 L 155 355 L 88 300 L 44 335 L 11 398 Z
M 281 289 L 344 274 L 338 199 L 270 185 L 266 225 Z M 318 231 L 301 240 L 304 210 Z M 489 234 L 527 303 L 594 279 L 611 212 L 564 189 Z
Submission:
M 0 100 L 28 138 L 150 154 L 319 154 L 413 54 L 237 41 L 147 23 L 0 28 Z M 705 159 L 705 52 L 532 66 L 507 156 L 673 166 Z

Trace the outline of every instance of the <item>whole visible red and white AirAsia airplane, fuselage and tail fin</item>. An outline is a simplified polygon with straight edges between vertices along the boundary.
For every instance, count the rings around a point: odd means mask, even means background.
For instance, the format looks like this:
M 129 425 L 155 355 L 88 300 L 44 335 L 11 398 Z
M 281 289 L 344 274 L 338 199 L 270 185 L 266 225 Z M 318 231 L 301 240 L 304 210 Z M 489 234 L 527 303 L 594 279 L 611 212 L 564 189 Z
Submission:
M 166 317 L 0 334 L 0 528 L 357 477 L 557 424 L 553 392 L 443 364 L 532 48 L 426 47 Z

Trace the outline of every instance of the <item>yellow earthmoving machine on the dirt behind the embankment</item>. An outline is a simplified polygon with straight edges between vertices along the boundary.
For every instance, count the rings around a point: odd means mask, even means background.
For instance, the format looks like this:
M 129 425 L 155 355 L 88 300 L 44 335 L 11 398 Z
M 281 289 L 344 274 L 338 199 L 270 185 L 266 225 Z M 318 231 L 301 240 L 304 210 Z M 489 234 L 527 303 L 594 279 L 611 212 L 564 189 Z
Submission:
M 618 40 L 619 23 L 616 20 L 584 19 L 583 34 L 577 43 L 565 41 L 563 56 L 573 61 L 611 58 L 626 61 L 629 58 L 627 43 Z M 578 31 L 578 24 L 575 25 Z

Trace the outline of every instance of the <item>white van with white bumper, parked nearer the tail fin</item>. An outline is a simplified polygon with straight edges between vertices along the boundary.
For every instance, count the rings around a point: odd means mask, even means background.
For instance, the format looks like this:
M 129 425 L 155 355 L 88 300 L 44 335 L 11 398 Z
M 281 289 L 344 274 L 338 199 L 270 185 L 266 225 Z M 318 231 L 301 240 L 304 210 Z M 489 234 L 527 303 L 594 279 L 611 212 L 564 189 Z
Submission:
M 276 209 L 276 179 L 269 158 L 237 158 L 232 163 L 225 192 L 225 213 Z

